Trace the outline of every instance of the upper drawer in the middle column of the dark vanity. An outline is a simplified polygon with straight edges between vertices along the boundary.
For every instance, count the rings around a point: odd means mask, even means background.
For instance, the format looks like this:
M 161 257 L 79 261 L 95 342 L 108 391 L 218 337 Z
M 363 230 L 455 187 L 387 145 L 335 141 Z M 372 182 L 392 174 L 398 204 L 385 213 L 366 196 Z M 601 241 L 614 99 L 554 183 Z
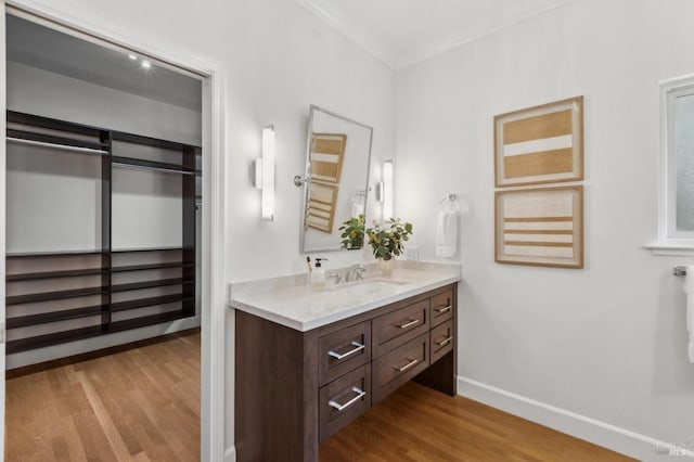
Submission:
M 377 358 L 429 330 L 429 299 L 373 320 L 373 357 Z

